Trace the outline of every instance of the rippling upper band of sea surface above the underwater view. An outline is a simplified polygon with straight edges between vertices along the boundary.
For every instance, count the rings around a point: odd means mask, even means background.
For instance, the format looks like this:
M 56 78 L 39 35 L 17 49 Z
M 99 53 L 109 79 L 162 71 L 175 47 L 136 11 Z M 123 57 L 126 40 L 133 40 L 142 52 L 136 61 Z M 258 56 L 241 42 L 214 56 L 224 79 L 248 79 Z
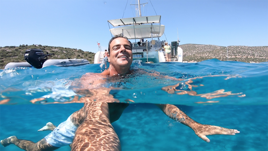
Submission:
M 108 67 L 109 63 L 106 64 Z M 190 106 L 267 105 L 267 62 L 253 64 L 211 59 L 198 63 L 146 64 L 135 60 L 131 69 L 134 70 L 132 74 L 107 78 L 107 82 L 100 85 L 102 88 L 112 88 L 107 94 L 103 92 L 107 95 L 104 100 Z M 140 69 L 142 72 L 139 72 Z M 0 103 L 25 104 L 40 98 L 39 103 L 66 103 L 74 100 L 75 96 L 83 98 L 89 94 L 76 92 L 81 87 L 78 79 L 85 73 L 104 70 L 105 63 L 1 70 Z M 103 101 L 101 98 L 86 101 Z

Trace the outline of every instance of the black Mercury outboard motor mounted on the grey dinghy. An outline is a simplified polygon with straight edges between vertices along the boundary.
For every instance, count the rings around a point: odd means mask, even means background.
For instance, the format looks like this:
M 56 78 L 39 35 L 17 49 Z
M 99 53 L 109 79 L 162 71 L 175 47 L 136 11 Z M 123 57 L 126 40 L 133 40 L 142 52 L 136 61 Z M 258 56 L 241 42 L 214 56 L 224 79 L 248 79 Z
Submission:
M 41 69 L 43 63 L 47 60 L 47 56 L 51 56 L 54 53 L 44 55 L 41 49 L 28 49 L 25 52 L 24 59 L 36 69 Z

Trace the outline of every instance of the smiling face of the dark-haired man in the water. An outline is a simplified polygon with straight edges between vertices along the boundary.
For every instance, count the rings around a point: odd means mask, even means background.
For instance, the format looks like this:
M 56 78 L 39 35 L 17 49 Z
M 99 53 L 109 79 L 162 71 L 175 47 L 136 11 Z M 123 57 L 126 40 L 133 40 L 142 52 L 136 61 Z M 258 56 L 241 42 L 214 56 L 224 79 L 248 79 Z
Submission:
M 121 37 L 114 39 L 110 44 L 108 62 L 113 67 L 130 67 L 132 60 L 132 50 L 129 41 Z

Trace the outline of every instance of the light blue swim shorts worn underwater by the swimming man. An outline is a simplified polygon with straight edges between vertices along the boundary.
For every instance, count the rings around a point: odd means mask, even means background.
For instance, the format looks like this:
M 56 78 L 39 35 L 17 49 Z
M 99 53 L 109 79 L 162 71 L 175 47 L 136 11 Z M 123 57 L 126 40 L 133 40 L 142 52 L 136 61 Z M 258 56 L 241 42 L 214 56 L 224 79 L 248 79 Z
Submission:
M 45 136 L 46 141 L 55 147 L 62 147 L 70 145 L 73 142 L 73 138 L 75 137 L 75 132 L 77 127 L 73 125 L 70 120 L 70 117 L 58 127 L 54 129 L 49 135 Z

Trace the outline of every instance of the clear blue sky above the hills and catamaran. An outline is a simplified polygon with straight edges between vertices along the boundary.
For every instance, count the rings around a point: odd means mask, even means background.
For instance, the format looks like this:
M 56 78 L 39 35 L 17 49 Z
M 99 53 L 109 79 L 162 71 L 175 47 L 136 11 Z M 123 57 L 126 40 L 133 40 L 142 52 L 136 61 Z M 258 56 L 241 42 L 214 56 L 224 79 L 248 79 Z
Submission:
M 0 46 L 41 44 L 97 52 L 98 41 L 104 50 L 111 38 L 107 20 L 136 17 L 130 5 L 135 2 L 1 0 Z M 146 2 L 142 16 L 161 15 L 165 25 L 166 38 L 160 40 L 176 41 L 178 27 L 180 44 L 268 46 L 267 0 L 141 0 Z

